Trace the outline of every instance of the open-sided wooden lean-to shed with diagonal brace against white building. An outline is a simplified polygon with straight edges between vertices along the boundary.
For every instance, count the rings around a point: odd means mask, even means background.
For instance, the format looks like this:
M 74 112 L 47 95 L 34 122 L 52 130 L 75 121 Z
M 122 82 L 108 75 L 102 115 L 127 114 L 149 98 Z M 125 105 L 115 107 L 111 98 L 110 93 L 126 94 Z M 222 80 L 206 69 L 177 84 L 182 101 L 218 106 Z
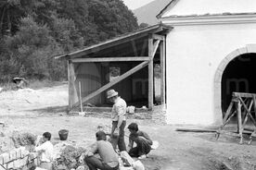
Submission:
M 116 88 L 122 97 L 126 96 L 123 98 L 128 101 L 142 100 L 143 95 L 138 93 L 147 89 L 147 108 L 152 110 L 154 63 L 158 63 L 161 67 L 160 104 L 165 104 L 165 37 L 172 29 L 158 24 L 85 47 L 83 50 L 56 56 L 56 59 L 68 60 L 69 111 L 78 107 L 81 102 L 104 105 L 106 103 L 104 91 L 115 87 L 121 81 L 122 84 Z M 109 67 L 112 66 L 120 68 L 120 70 L 117 69 L 115 79 L 109 79 Z M 134 91 L 138 87 L 134 79 L 147 82 L 147 86 L 141 87 L 139 92 Z M 82 90 L 79 90 L 80 83 L 82 83 Z M 81 93 L 82 101 L 79 99 Z M 134 97 L 134 95 L 137 96 Z

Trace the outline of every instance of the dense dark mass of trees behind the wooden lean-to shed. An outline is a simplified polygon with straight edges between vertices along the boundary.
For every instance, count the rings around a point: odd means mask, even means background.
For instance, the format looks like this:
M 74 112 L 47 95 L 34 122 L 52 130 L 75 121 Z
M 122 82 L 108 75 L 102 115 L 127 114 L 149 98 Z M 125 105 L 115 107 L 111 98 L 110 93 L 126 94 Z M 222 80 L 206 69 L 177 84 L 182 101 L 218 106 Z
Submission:
M 122 0 L 0 0 L 0 82 L 65 79 L 54 55 L 136 29 Z

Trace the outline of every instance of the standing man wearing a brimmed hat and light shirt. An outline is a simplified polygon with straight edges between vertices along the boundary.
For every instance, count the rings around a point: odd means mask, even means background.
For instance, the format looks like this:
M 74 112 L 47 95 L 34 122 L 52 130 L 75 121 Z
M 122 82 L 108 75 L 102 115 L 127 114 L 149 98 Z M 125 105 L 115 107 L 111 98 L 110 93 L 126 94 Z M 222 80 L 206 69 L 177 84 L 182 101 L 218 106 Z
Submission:
M 109 90 L 107 92 L 108 99 L 113 104 L 112 107 L 112 130 L 110 136 L 110 142 L 113 145 L 113 148 L 116 149 L 117 145 L 119 151 L 126 151 L 126 146 L 124 142 L 124 128 L 126 126 L 126 102 L 118 96 L 118 92 L 114 90 Z

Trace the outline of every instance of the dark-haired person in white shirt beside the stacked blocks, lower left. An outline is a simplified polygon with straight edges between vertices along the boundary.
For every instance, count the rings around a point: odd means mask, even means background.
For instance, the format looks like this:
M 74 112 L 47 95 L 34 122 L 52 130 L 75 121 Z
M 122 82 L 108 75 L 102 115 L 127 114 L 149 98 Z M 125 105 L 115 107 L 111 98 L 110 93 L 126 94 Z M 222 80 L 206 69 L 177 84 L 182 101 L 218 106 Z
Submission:
M 52 170 L 53 159 L 53 144 L 51 143 L 51 133 L 45 132 L 43 134 L 43 143 L 40 146 L 35 147 L 35 151 L 40 155 L 40 167 Z

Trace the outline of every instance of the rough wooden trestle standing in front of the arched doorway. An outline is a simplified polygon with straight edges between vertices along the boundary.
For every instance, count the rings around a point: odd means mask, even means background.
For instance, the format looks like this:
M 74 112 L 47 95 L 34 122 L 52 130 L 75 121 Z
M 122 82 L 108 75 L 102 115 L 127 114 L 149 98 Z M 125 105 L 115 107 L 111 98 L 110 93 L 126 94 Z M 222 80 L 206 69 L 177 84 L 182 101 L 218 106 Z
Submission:
M 254 130 L 250 135 L 250 142 L 253 137 L 256 137 L 256 121 L 252 116 L 252 108 L 254 110 L 254 114 L 256 114 L 256 94 L 255 93 L 244 93 L 244 92 L 233 92 L 232 100 L 229 104 L 226 113 L 224 115 L 224 123 L 223 125 L 216 131 L 216 140 L 219 139 L 220 134 L 227 134 L 231 136 L 236 136 L 240 138 L 239 143 L 243 143 L 243 133 L 245 132 L 245 126 L 250 118 L 254 125 Z M 224 126 L 228 124 L 231 118 L 237 115 L 237 132 L 230 132 L 224 130 Z

